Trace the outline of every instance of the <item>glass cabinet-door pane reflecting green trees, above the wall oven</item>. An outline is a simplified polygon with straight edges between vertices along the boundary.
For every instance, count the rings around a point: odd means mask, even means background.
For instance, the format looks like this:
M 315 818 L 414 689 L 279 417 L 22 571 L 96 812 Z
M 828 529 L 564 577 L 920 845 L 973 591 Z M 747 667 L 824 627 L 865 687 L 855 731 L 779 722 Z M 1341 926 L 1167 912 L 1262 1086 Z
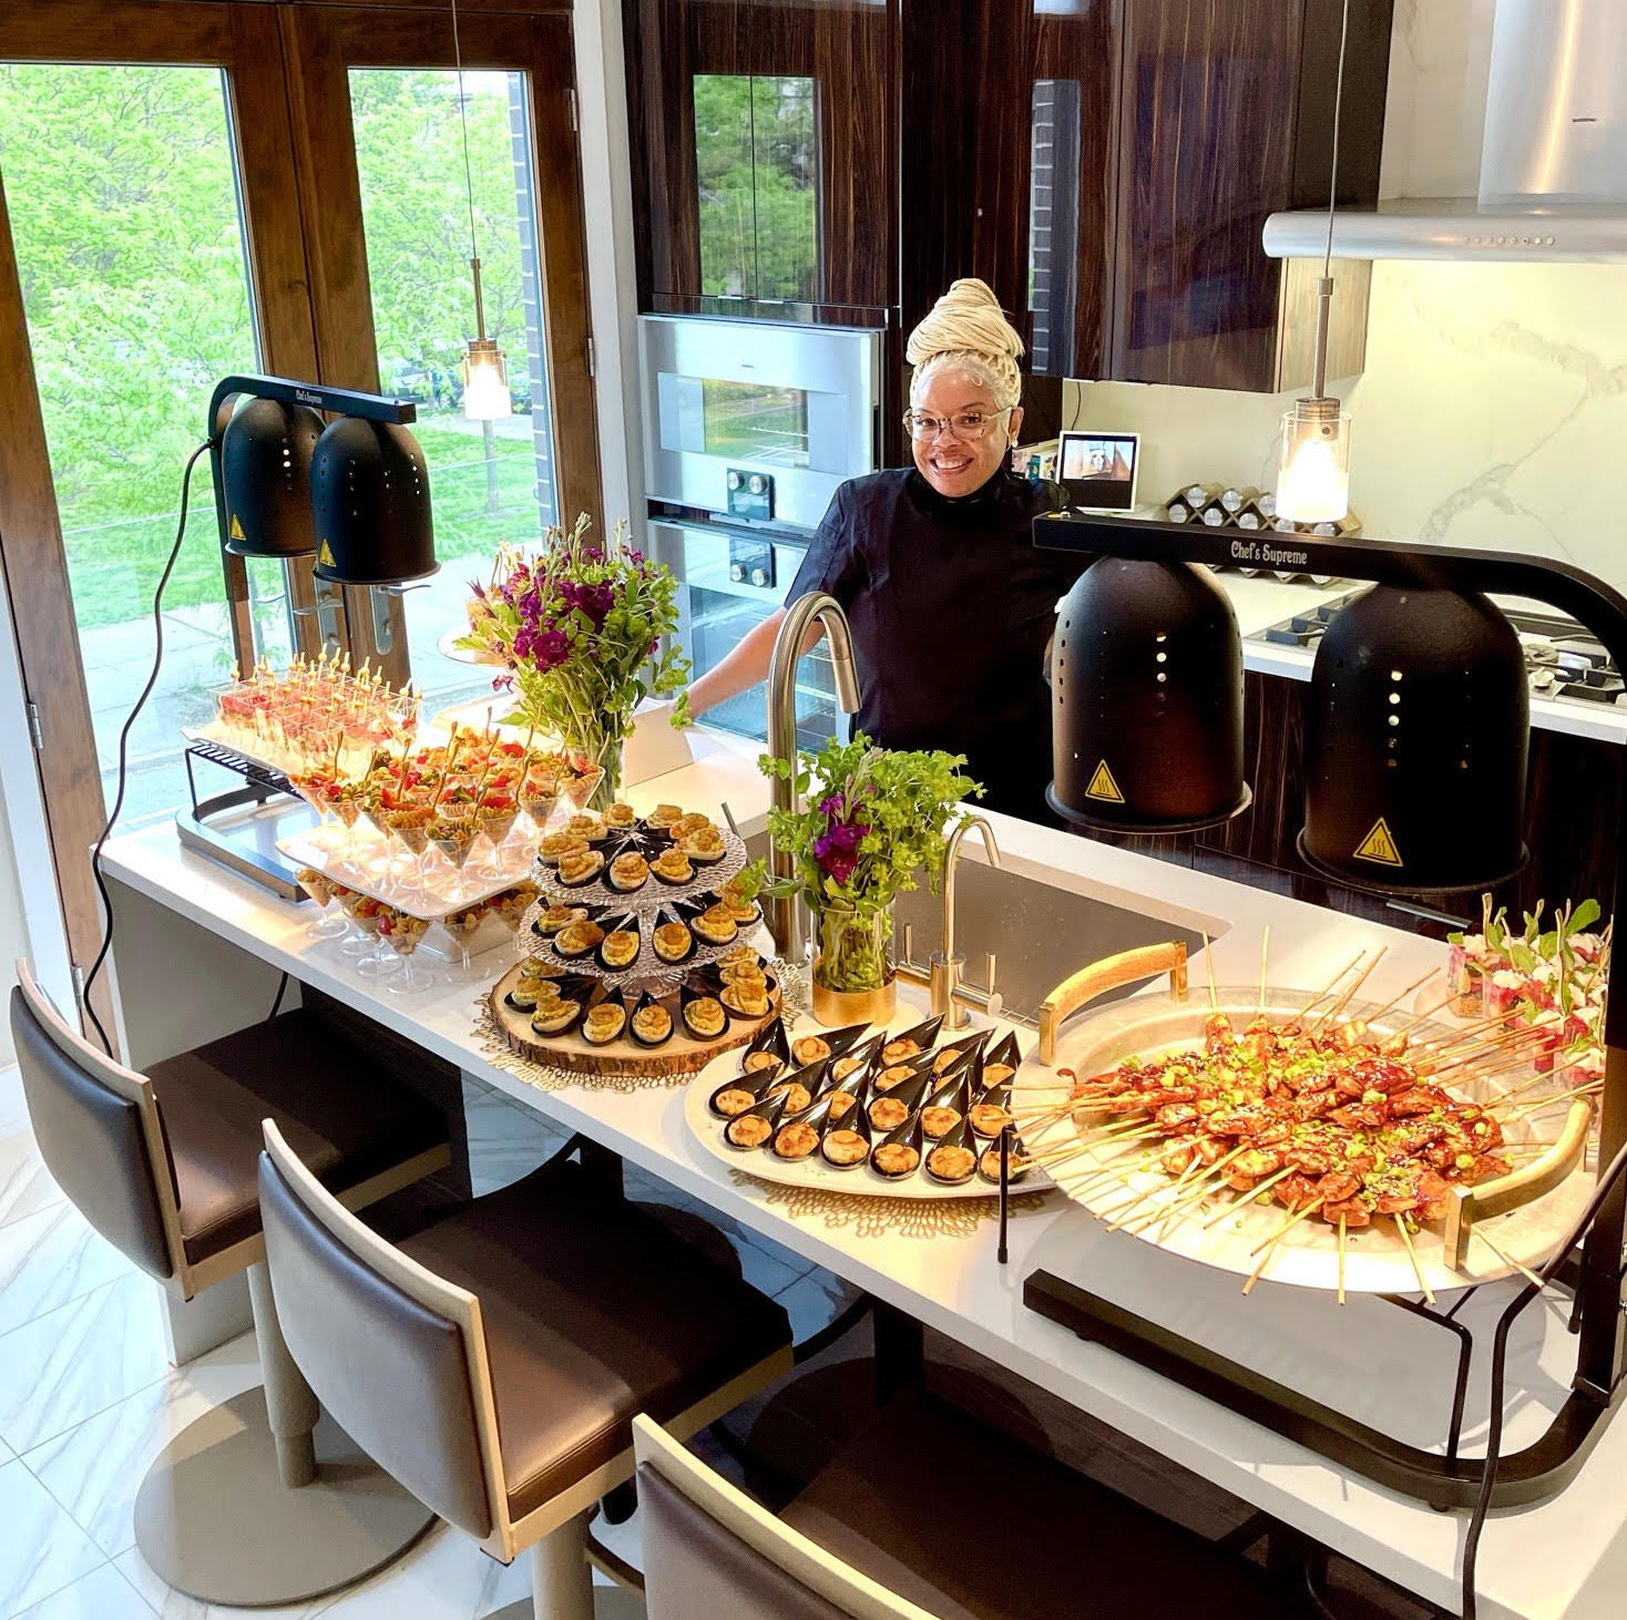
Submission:
M 701 291 L 817 303 L 818 133 L 812 78 L 695 78 Z

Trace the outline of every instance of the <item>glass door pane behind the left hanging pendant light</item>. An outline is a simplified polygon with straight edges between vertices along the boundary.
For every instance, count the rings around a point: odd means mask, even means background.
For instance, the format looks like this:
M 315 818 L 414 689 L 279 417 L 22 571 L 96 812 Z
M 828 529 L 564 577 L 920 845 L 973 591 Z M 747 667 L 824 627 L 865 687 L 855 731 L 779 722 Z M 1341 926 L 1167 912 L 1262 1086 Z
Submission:
M 503 421 L 462 415 L 475 306 L 457 75 L 350 72 L 379 382 L 418 402 L 412 431 L 434 491 L 441 571 L 405 595 L 426 714 L 491 699 L 491 672 L 446 651 L 465 623 L 469 581 L 490 577 L 499 547 L 535 545 L 558 520 L 526 75 L 465 72 L 464 94 L 486 335 L 508 355 L 514 397 Z

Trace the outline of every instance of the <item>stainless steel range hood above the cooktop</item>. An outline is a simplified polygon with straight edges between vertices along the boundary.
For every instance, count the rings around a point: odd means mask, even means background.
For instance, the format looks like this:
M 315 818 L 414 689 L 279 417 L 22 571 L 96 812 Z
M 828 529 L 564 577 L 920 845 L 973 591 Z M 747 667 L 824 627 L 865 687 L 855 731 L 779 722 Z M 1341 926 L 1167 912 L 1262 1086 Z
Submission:
M 1274 213 L 1264 247 L 1321 257 L 1326 236 L 1326 213 Z M 1479 195 L 1337 213 L 1333 252 L 1627 263 L 1627 0 L 1497 0 Z

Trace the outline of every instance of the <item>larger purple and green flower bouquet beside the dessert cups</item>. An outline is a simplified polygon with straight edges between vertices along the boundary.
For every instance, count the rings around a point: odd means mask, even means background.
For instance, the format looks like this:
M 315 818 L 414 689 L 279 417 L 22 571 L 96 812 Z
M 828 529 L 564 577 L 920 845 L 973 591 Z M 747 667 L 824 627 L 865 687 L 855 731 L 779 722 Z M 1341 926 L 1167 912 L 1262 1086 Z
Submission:
M 503 665 L 495 685 L 516 699 L 508 724 L 535 725 L 604 771 L 591 802 L 604 808 L 622 786 L 633 711 L 678 693 L 672 724 L 687 724 L 690 660 L 674 639 L 670 569 L 631 550 L 623 524 L 608 545 L 589 543 L 587 529 L 586 516 L 569 533 L 550 529 L 539 553 L 472 582 L 469 634 L 457 644 Z

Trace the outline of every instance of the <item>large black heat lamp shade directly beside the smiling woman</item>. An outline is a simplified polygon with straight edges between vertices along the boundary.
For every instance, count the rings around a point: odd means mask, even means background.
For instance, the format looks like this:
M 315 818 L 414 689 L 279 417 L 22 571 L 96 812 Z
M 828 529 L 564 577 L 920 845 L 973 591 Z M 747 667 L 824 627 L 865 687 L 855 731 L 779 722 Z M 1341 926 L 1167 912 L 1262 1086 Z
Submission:
M 1053 781 L 1075 826 L 1171 834 L 1248 807 L 1243 646 L 1214 577 L 1189 563 L 1105 556 L 1058 612 Z

